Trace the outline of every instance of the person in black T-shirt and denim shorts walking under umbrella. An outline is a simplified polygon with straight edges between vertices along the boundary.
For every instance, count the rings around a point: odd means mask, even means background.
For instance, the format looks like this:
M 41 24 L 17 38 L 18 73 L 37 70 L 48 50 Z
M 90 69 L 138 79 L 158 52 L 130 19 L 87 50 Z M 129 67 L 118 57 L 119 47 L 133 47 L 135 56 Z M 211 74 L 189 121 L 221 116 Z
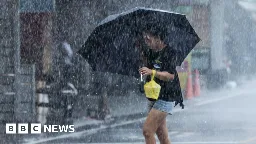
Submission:
M 155 144 L 155 134 L 161 144 L 170 144 L 166 117 L 172 113 L 174 105 L 178 103 L 182 108 L 183 98 L 176 71 L 175 52 L 164 42 L 166 35 L 156 28 L 149 28 L 143 32 L 143 53 L 146 58 L 145 67 L 139 69 L 140 74 L 150 81 L 154 80 L 161 86 L 158 99 L 148 98 L 149 113 L 143 126 L 146 144 Z

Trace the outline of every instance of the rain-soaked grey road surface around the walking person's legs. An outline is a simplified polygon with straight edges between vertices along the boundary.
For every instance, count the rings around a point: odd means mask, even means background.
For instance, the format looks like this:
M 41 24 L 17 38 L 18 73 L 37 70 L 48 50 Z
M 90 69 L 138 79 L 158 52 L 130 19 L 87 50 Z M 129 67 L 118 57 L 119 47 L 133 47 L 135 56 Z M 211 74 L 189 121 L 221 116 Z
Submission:
M 193 106 L 175 111 L 167 118 L 173 144 L 256 144 L 255 90 L 192 102 Z M 144 119 L 124 122 L 110 128 L 73 133 L 45 143 L 140 144 L 144 143 L 143 122 Z

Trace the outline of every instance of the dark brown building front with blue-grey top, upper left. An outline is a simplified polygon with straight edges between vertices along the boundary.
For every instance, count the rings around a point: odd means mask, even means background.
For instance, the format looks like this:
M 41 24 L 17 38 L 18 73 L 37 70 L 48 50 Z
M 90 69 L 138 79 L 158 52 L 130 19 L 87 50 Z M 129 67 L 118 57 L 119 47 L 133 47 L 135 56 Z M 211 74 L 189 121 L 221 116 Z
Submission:
M 53 17 L 53 0 L 20 0 L 21 63 L 36 64 L 36 80 L 50 69 Z

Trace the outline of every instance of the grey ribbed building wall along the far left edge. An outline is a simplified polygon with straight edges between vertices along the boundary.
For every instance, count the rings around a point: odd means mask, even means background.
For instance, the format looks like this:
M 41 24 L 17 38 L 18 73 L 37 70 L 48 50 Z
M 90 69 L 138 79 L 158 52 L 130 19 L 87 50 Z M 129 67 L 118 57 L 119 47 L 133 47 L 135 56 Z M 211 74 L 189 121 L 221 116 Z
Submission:
M 5 133 L 6 123 L 20 121 L 22 115 L 31 114 L 31 111 L 24 112 L 25 105 L 20 97 L 23 71 L 20 68 L 18 10 L 18 0 L 0 2 L 0 133 Z

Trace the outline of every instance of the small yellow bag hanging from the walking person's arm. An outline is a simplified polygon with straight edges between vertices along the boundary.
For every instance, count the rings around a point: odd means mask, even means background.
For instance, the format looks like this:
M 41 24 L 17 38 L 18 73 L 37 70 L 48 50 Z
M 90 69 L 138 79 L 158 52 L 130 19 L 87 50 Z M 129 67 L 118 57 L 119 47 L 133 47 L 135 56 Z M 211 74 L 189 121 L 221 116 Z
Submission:
M 154 81 L 156 71 L 152 70 L 152 72 L 153 75 L 151 76 L 151 80 L 144 85 L 144 90 L 147 98 L 157 100 L 161 90 L 161 86 Z

